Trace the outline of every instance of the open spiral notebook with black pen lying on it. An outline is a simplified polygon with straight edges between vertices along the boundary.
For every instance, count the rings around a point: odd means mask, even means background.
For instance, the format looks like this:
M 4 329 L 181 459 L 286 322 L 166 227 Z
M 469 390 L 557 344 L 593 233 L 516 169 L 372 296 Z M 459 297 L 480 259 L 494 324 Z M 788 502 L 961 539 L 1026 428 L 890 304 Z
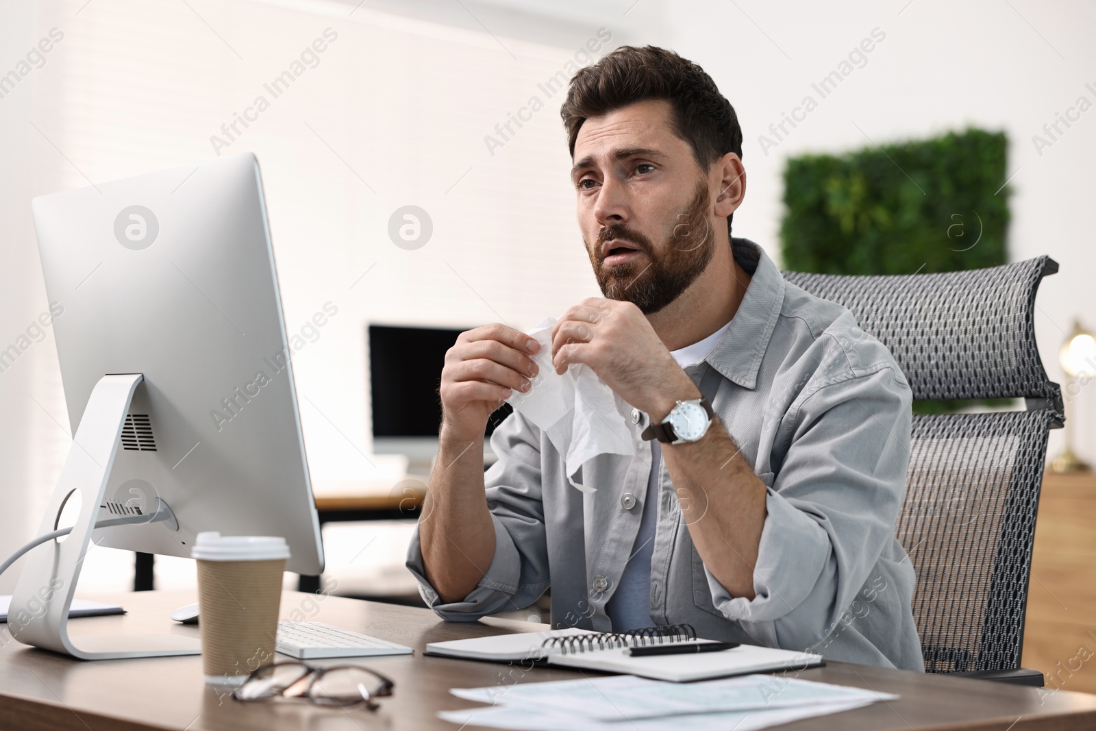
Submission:
M 627 649 L 632 647 L 707 642 L 711 640 L 697 639 L 696 632 L 688 625 L 650 627 L 628 632 L 594 632 L 570 628 L 431 642 L 426 646 L 425 654 L 581 667 L 673 683 L 777 670 L 802 670 L 822 664 L 821 655 L 754 644 L 740 644 L 719 652 L 643 658 L 627 653 Z

